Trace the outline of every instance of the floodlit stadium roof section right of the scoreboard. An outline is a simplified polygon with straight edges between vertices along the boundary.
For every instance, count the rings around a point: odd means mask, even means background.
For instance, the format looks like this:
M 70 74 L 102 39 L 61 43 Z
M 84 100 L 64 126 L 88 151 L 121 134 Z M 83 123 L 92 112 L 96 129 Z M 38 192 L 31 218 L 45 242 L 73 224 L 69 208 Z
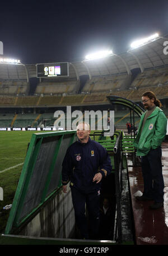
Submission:
M 130 49 L 122 54 L 114 54 L 110 57 L 95 61 L 73 63 L 78 75 L 102 76 L 127 73 L 133 68 L 140 68 L 143 72 L 146 68 L 155 68 L 168 65 L 168 54 L 164 54 L 164 42 L 168 38 L 160 37 L 157 40 L 145 44 L 136 49 Z

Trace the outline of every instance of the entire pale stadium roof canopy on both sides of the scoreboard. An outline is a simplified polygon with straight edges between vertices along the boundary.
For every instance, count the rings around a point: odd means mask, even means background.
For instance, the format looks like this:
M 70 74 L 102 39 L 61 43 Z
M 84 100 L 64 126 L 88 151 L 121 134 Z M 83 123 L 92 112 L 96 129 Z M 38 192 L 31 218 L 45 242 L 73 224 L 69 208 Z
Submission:
M 168 54 L 164 54 L 164 42 L 168 38 L 160 37 L 136 49 L 121 54 L 112 54 L 98 60 L 69 63 L 69 78 L 79 80 L 81 75 L 108 76 L 130 74 L 133 68 L 156 68 L 168 65 Z M 36 77 L 36 65 L 12 65 L 0 63 L 0 79 L 26 79 Z

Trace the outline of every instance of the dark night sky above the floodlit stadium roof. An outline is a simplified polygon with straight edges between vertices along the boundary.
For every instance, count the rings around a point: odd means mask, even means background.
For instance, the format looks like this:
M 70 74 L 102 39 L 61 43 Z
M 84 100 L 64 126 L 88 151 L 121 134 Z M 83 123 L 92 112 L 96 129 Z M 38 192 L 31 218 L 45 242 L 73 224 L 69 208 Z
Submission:
M 81 61 L 101 49 L 122 53 L 154 33 L 168 35 L 167 0 L 0 3 L 4 56 L 25 64 Z

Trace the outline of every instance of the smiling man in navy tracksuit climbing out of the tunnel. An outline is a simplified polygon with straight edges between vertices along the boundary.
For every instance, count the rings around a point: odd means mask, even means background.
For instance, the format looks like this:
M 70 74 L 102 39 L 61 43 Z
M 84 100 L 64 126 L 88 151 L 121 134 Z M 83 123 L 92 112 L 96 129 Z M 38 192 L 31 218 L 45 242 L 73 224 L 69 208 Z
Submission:
M 76 223 L 83 239 L 97 239 L 99 232 L 99 198 L 101 180 L 110 174 L 111 160 L 99 143 L 90 139 L 90 126 L 77 126 L 78 140 L 68 149 L 62 164 L 63 192 L 70 181 Z M 85 203 L 90 220 L 90 237 L 85 216 Z

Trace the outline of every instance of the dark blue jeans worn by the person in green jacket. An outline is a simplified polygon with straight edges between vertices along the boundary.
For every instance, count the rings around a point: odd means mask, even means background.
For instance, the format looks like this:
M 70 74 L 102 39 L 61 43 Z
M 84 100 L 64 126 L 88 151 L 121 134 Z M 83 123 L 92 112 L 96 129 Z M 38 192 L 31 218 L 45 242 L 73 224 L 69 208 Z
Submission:
M 164 202 L 164 178 L 162 175 L 161 147 L 151 149 L 147 156 L 141 157 L 144 182 L 143 195 L 155 203 Z

